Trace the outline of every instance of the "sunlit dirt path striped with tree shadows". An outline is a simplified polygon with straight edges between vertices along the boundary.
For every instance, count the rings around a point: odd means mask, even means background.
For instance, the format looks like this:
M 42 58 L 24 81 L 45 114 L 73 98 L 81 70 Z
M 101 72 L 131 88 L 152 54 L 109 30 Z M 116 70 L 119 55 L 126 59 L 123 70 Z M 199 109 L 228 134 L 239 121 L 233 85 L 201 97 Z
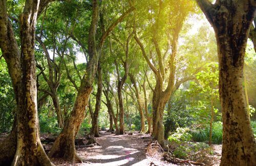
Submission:
M 78 165 L 166 165 L 166 162 L 146 156 L 146 145 L 150 135 L 133 133 L 133 135 L 115 135 L 100 132 L 97 138 L 100 146 L 79 148 L 77 153 L 87 162 Z M 148 137 L 142 139 L 142 137 Z M 164 163 L 165 162 L 165 163 Z M 168 165 L 170 165 L 168 163 Z

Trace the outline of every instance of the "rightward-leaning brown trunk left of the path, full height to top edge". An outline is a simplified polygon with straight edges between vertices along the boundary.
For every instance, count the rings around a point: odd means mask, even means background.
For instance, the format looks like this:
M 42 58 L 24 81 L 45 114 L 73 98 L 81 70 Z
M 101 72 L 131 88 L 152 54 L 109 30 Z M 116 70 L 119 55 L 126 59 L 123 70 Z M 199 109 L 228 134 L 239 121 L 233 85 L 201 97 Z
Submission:
M 92 6 L 92 20 L 88 38 L 88 52 L 90 59 L 87 65 L 87 74 L 82 78 L 70 117 L 54 141 L 53 147 L 49 152 L 50 157 L 63 157 L 73 162 L 82 162 L 82 159 L 77 155 L 75 150 L 75 136 L 86 113 L 86 107 L 88 106 L 90 94 L 93 89 L 93 80 L 99 60 L 95 40 L 99 17 L 98 1 L 93 0 Z

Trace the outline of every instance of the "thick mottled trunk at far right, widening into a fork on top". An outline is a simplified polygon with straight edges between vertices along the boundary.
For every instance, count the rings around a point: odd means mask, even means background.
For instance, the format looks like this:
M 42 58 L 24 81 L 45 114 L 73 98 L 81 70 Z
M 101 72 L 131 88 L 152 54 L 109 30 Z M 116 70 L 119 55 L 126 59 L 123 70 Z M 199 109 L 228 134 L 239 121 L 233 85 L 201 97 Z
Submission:
M 221 165 L 256 165 L 256 143 L 243 89 L 244 56 L 255 1 L 197 0 L 214 27 L 219 57 L 223 142 Z

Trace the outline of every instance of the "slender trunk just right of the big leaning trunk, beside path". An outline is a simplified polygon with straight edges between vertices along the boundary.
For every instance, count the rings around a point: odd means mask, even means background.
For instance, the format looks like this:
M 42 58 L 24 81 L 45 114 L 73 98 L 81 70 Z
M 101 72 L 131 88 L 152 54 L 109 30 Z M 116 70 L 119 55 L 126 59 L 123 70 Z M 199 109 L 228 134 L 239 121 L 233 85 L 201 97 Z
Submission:
M 92 131 L 91 134 L 94 137 L 99 137 L 99 127 L 98 127 L 98 116 L 101 105 L 101 96 L 102 96 L 102 69 L 100 63 L 98 64 L 98 82 L 97 82 L 97 94 L 96 94 L 96 105 L 93 113 L 92 119 Z

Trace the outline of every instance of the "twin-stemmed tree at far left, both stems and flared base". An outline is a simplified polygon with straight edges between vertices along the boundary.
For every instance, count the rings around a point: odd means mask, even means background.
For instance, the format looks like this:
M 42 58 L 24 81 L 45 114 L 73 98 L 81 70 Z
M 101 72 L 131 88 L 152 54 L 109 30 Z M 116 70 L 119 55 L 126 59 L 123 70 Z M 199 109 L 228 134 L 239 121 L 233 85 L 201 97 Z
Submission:
M 8 137 L 10 141 L 3 141 L 3 148 L 10 149 L 7 149 L 9 152 L 0 163 L 10 164 L 13 158 L 12 165 L 52 165 L 40 142 L 37 116 L 34 45 L 39 1 L 26 1 L 20 15 L 21 55 L 8 20 L 6 1 L 0 3 L 0 46 L 12 78 L 17 103 L 16 123 Z

